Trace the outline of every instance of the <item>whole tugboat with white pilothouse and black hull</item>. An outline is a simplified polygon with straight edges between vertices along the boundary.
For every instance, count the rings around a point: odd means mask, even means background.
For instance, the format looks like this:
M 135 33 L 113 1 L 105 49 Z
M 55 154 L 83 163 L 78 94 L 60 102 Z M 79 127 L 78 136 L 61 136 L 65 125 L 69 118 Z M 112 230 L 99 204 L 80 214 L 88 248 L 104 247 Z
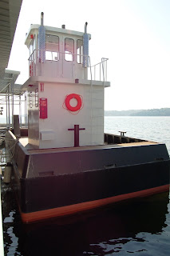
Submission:
M 31 25 L 28 130 L 6 133 L 23 222 L 38 222 L 169 190 L 164 144 L 104 134 L 107 61 L 91 66 L 83 33 Z M 21 135 L 21 136 L 20 136 Z

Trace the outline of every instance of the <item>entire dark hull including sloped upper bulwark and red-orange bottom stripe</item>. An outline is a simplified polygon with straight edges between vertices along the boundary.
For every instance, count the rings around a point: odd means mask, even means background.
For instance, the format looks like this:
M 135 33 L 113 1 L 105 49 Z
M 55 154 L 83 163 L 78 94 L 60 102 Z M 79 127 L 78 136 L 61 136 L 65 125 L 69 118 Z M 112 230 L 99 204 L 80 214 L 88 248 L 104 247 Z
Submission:
M 12 180 L 23 222 L 34 222 L 168 191 L 169 158 L 164 144 L 26 154 L 18 143 Z

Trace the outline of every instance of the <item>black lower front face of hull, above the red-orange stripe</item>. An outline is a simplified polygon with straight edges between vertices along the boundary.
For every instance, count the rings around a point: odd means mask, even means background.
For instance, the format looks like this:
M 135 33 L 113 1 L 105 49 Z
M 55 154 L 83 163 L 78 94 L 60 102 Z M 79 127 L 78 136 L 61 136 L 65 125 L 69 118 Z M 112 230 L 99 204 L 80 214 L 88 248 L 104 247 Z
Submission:
M 91 202 L 169 184 L 169 161 L 21 179 L 23 213 Z

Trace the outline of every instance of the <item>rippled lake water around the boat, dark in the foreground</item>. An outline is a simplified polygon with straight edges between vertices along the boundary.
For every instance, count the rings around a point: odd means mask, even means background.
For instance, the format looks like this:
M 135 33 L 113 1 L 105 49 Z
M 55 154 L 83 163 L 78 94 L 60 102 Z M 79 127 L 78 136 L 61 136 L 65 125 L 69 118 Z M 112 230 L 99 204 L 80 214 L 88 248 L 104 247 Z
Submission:
M 170 117 L 105 117 L 105 132 L 166 142 L 170 153 Z M 14 194 L 2 183 L 6 255 L 139 255 L 170 252 L 169 195 L 79 214 L 60 221 L 22 225 Z

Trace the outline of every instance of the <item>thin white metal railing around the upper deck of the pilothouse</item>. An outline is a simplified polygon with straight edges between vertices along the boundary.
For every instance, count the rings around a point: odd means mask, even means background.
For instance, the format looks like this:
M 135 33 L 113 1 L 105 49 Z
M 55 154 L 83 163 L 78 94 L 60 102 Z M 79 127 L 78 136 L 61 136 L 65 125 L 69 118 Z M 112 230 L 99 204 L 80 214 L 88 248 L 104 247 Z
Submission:
M 94 80 L 94 81 L 107 81 L 107 61 L 108 58 L 101 58 L 101 62 L 96 65 L 91 66 L 90 57 L 89 66 L 83 67 L 82 59 L 84 55 L 73 54 L 68 52 L 53 52 L 45 51 L 45 62 L 42 62 L 41 54 L 39 52 L 43 50 L 34 50 L 29 58 L 29 73 L 31 76 L 43 76 L 44 74 L 44 64 L 48 62 L 56 63 L 55 77 L 64 77 L 65 63 L 70 63 L 70 78 L 77 78 L 77 73 L 79 72 L 83 78 Z M 70 57 L 69 57 L 70 56 Z M 67 64 L 68 65 L 68 64 Z M 82 69 L 80 70 L 80 66 Z

